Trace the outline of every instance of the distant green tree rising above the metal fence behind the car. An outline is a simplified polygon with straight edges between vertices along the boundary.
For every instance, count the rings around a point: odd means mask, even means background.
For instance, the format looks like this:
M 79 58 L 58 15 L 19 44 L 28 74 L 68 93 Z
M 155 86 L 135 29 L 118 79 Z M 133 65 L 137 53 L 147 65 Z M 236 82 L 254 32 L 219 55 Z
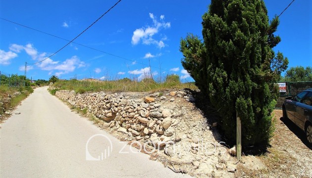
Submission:
M 312 81 L 312 67 L 291 67 L 286 71 L 285 80 L 287 82 L 310 82 Z

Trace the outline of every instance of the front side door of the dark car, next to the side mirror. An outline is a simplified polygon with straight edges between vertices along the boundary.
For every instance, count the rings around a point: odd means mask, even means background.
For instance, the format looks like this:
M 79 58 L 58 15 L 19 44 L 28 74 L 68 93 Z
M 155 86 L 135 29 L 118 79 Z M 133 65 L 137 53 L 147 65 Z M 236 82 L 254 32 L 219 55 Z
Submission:
M 298 93 L 291 99 L 291 102 L 286 103 L 286 111 L 287 116 L 290 120 L 292 120 L 295 124 L 296 123 L 296 112 L 297 112 L 297 105 L 300 103 L 303 97 L 308 93 L 308 91 L 303 91 Z

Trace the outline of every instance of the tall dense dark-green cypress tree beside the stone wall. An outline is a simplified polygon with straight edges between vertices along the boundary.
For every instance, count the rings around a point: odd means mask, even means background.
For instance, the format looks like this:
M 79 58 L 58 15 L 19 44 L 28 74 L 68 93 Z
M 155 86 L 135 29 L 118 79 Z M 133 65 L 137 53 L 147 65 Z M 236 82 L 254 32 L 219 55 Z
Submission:
M 181 40 L 183 67 L 218 111 L 231 143 L 236 116 L 242 122 L 243 145 L 267 145 L 277 82 L 287 58 L 273 47 L 278 17 L 269 23 L 263 0 L 211 0 L 203 15 L 203 41 L 189 34 Z

